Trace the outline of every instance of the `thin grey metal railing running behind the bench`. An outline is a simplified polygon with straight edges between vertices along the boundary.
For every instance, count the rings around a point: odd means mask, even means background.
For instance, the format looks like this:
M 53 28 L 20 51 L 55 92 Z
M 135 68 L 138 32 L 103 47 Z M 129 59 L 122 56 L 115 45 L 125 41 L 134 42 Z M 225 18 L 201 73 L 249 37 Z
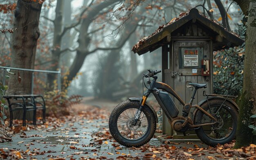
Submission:
M 56 73 L 56 74 L 58 74 L 58 94 L 61 93 L 61 69 L 60 68 L 58 69 L 58 71 L 52 71 L 52 70 L 32 70 L 32 69 L 2 67 L 2 66 L 0 66 L 0 68 L 4 69 L 4 75 L 5 75 L 7 69 L 11 69 L 11 70 L 24 70 L 24 71 L 32 72 L 31 94 L 34 94 L 34 90 L 33 90 L 34 89 L 34 72 Z M 4 79 L 3 85 L 5 85 L 5 79 Z

